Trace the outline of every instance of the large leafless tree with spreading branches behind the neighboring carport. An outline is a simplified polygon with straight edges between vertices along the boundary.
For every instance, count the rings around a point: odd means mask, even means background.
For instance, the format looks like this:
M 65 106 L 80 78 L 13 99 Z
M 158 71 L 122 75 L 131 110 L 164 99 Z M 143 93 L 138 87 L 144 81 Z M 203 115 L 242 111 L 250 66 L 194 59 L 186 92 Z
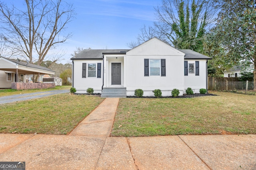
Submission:
M 1 28 L 19 55 L 40 65 L 49 50 L 72 36 L 62 32 L 74 18 L 74 9 L 63 0 L 24 0 L 24 4 L 26 10 L 0 2 Z

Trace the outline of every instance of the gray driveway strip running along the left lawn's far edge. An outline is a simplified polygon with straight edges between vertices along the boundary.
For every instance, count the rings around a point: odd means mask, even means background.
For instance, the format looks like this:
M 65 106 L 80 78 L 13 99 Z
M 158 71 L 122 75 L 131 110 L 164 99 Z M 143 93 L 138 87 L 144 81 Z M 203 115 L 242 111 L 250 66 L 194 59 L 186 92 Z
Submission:
M 46 96 L 51 96 L 54 94 L 68 93 L 70 90 L 51 90 L 46 92 L 34 92 L 34 93 L 26 93 L 26 94 L 15 94 L 11 96 L 2 96 L 0 97 L 0 104 L 19 102 L 24 100 L 31 100 L 36 98 L 43 98 Z

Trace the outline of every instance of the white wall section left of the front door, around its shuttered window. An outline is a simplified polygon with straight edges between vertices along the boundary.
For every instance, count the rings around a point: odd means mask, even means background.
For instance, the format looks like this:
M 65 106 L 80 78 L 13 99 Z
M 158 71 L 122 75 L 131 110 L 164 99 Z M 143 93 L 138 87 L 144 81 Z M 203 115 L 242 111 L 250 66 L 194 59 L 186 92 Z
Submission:
M 93 88 L 94 93 L 101 93 L 103 84 L 103 72 L 101 64 L 101 78 L 91 78 L 87 76 L 82 78 L 82 63 L 103 63 L 103 60 L 74 60 L 74 88 L 76 88 L 76 93 L 84 94 L 87 88 Z M 97 70 L 96 70 L 97 71 Z M 88 67 L 86 67 L 86 73 L 88 72 Z

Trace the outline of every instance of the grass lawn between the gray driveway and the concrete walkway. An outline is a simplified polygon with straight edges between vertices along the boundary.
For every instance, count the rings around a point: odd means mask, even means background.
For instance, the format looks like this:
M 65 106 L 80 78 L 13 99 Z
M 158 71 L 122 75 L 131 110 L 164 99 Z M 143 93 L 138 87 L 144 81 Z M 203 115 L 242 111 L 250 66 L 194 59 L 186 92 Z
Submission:
M 104 99 L 57 94 L 0 105 L 0 133 L 67 134 Z

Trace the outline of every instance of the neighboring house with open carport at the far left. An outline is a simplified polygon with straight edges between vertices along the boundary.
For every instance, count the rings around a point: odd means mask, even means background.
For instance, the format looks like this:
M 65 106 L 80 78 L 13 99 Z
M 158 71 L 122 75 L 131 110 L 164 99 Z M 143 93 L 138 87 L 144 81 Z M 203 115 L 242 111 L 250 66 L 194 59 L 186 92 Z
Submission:
M 12 88 L 13 82 L 26 83 L 29 74 L 52 74 L 55 72 L 43 66 L 0 57 L 0 88 Z

